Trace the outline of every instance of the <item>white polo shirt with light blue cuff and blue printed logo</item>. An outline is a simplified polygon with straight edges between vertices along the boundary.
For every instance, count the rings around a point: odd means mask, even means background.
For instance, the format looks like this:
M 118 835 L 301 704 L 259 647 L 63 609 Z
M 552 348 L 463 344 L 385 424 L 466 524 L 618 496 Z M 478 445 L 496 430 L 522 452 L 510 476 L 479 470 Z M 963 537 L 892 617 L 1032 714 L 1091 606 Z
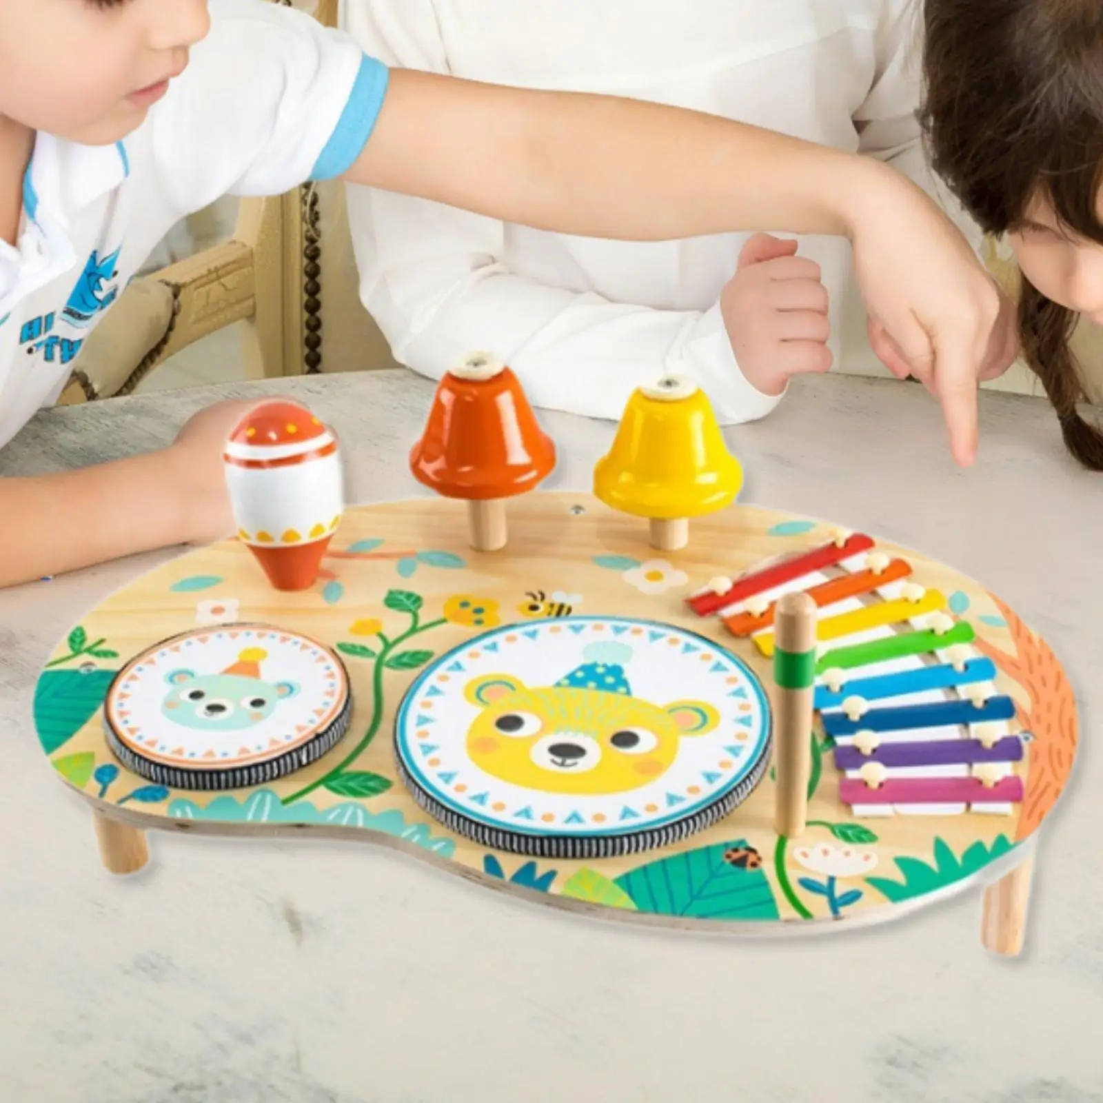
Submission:
M 56 400 L 88 333 L 182 217 L 340 176 L 367 142 L 386 66 L 263 0 L 211 0 L 211 17 L 124 141 L 36 136 L 18 247 L 0 242 L 0 446 Z

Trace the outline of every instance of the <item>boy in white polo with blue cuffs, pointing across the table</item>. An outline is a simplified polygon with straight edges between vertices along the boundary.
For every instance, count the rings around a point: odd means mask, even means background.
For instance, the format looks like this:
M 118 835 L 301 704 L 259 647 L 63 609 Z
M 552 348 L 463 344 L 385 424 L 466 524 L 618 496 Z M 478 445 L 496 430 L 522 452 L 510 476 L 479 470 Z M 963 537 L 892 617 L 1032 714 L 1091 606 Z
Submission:
M 0 0 L 0 443 L 56 398 L 170 226 L 311 176 L 588 236 L 846 234 L 871 311 L 935 374 L 972 460 L 998 297 L 891 170 L 671 108 L 388 73 L 263 0 Z M 18 518 L 0 585 L 232 531 L 219 446 L 238 415 L 213 407 L 152 456 L 0 480 Z M 124 500 L 140 525 L 114 523 Z

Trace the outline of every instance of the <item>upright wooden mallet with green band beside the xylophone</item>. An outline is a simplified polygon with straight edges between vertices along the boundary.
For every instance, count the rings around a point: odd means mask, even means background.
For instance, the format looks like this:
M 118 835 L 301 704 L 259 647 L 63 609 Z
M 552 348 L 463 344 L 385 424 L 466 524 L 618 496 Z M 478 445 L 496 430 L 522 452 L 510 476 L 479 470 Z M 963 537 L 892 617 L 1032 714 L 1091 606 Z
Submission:
M 774 613 L 773 681 L 777 693 L 774 826 L 796 838 L 808 817 L 812 717 L 816 681 L 816 603 L 786 593 Z

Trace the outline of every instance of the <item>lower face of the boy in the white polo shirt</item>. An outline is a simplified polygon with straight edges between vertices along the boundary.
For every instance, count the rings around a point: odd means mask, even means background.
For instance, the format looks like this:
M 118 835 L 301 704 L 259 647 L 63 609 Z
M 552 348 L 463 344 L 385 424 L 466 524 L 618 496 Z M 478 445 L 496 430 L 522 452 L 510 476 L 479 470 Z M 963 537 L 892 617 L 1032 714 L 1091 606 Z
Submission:
M 207 0 L 0 0 L 0 116 L 71 141 L 125 138 L 207 32 Z

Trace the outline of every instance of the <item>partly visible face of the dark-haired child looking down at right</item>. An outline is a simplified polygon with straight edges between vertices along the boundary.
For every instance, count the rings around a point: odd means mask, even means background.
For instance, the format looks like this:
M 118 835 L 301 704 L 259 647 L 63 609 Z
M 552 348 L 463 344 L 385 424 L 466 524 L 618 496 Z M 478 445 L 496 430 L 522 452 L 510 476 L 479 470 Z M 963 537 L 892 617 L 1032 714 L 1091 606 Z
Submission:
M 1096 210 L 1103 223 L 1103 193 Z M 1022 275 L 1047 299 L 1103 325 L 1103 245 L 1072 236 L 1042 200 L 1030 205 L 1026 224 L 1008 240 Z

